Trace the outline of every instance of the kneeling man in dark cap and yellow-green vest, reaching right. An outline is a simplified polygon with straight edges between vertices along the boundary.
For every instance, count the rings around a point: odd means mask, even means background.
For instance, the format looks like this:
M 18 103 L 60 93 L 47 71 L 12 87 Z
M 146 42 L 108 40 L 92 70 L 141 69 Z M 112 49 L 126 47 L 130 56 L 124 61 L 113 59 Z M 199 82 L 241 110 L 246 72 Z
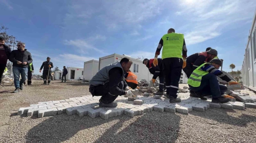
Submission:
M 229 85 L 239 84 L 232 81 L 227 75 L 222 73 L 219 68 L 221 66 L 220 59 L 213 59 L 209 63 L 203 63 L 197 67 L 188 79 L 190 90 L 195 91 L 198 96 L 212 95 L 212 103 L 227 103 L 232 96 L 225 95 L 227 87 L 220 85 L 217 79 L 219 76 L 222 80 L 228 82 Z

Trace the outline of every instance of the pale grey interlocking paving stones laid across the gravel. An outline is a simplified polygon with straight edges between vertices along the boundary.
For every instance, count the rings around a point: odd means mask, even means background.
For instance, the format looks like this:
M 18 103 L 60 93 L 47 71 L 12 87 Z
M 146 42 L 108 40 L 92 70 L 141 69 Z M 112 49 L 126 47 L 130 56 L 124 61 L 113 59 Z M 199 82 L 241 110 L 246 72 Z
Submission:
M 122 114 L 134 117 L 153 110 L 188 114 L 192 110 L 203 112 L 210 107 L 240 110 L 244 110 L 245 107 L 256 108 L 256 103 L 254 102 L 211 103 L 211 98 L 205 101 L 189 97 L 189 93 L 181 93 L 178 97 L 182 100 L 180 103 L 169 103 L 169 99 L 163 96 L 160 98 L 138 96 L 134 101 L 128 101 L 127 98 L 118 96 L 115 101 L 117 102 L 116 108 L 100 108 L 98 106 L 100 96 L 92 97 L 87 95 L 67 100 L 38 102 L 38 104 L 32 104 L 30 107 L 20 108 L 18 115 L 27 114 L 27 116 L 37 115 L 38 117 L 44 117 L 66 113 L 67 115 L 77 114 L 79 117 L 88 115 L 92 118 L 100 116 L 108 119 Z

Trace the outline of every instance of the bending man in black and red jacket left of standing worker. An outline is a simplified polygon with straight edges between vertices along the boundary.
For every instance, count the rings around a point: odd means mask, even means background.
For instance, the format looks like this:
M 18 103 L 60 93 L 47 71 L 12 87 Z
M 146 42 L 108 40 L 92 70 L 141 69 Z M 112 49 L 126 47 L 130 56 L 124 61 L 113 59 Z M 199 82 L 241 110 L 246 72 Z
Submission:
M 153 64 L 154 59 L 144 59 L 143 64 L 145 64 L 150 71 L 151 74 L 153 74 L 152 82 L 153 84 L 156 82 L 157 77 L 159 76 L 159 90 L 157 91 L 156 95 L 164 95 L 164 73 L 163 73 L 163 65 L 162 65 L 162 59 L 157 58 L 158 65 L 156 67 Z

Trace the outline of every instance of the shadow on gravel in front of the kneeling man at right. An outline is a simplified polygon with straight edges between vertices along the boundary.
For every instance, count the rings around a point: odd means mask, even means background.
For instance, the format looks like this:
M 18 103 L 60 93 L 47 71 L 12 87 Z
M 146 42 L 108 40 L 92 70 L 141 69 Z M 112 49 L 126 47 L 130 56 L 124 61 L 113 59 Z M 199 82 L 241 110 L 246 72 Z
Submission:
M 239 117 L 233 117 L 228 115 L 227 112 L 236 113 L 232 109 L 222 109 L 222 108 L 210 108 L 205 112 L 190 112 L 189 114 L 194 116 L 199 116 L 209 120 L 214 120 L 220 123 L 236 125 L 241 127 L 246 127 L 248 123 L 256 122 L 256 117 L 251 115 L 242 114 Z

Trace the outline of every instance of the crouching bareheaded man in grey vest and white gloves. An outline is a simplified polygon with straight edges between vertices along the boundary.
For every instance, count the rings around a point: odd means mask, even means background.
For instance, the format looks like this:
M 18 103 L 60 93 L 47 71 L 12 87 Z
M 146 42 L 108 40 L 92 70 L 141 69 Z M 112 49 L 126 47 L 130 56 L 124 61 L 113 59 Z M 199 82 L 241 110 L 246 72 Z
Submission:
M 100 107 L 114 108 L 117 103 L 114 102 L 119 96 L 134 97 L 132 89 L 129 89 L 124 81 L 124 73 L 129 71 L 132 61 L 124 57 L 120 62 L 111 63 L 100 69 L 90 81 L 89 91 L 93 96 L 101 96 L 99 100 Z M 125 91 L 127 90 L 127 91 Z

